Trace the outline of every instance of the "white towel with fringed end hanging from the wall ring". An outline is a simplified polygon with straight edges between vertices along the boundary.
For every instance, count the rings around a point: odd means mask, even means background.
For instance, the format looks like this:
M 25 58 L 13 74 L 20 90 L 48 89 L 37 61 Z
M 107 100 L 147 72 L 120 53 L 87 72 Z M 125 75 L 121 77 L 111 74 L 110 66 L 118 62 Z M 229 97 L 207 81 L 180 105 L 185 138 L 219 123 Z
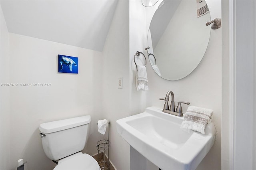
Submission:
M 148 76 L 146 67 L 144 65 L 138 65 L 138 71 L 136 74 L 136 87 L 137 90 L 148 91 Z

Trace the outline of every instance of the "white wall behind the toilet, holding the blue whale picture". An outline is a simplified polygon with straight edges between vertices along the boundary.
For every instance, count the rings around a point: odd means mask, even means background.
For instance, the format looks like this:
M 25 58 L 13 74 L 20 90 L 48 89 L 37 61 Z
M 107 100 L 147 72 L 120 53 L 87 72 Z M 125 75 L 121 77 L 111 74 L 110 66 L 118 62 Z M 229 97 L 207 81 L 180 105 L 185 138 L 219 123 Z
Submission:
M 58 73 L 58 54 L 79 59 L 79 73 Z M 74 66 L 73 66 L 74 67 Z M 50 87 L 10 88 L 10 164 L 28 161 L 27 170 L 52 169 L 38 135 L 41 123 L 91 115 L 84 152 L 96 154 L 102 115 L 102 53 L 10 33 L 10 83 L 51 83 Z

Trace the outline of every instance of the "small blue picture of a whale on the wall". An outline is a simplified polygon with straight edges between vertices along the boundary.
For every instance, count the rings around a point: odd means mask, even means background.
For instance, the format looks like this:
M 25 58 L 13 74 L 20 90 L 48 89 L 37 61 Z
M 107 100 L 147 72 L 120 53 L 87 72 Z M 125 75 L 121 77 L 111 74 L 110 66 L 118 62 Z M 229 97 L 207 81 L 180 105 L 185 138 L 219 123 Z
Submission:
M 78 57 L 58 55 L 59 73 L 78 73 Z

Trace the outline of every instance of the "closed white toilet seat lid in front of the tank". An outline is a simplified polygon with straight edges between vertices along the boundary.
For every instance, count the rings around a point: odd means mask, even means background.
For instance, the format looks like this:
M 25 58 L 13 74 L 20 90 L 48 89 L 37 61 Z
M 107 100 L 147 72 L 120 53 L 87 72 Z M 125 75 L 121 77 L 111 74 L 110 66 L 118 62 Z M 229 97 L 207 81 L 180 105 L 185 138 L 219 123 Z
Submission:
M 92 156 L 78 152 L 59 160 L 54 170 L 100 170 L 100 166 Z

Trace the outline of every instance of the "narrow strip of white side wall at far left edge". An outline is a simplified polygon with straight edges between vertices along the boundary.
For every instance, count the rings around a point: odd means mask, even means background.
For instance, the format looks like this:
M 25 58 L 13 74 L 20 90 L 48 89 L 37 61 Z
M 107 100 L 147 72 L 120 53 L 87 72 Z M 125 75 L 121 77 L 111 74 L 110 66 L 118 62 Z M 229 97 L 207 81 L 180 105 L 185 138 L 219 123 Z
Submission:
M 9 32 L 0 7 L 0 83 L 9 83 Z M 10 169 L 10 88 L 1 87 L 0 89 L 0 169 Z

